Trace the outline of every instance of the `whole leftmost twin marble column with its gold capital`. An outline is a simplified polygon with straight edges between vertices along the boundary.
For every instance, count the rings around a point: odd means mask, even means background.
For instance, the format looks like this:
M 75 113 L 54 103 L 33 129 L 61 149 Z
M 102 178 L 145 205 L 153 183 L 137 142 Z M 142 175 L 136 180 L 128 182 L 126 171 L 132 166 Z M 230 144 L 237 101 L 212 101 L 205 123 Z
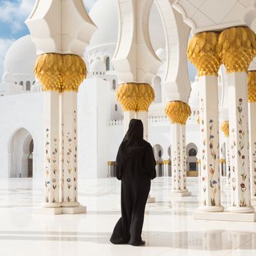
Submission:
M 76 55 L 48 53 L 37 59 L 35 73 L 45 91 L 45 206 L 61 206 L 53 214 L 84 213 L 78 203 L 77 92 L 86 64 Z

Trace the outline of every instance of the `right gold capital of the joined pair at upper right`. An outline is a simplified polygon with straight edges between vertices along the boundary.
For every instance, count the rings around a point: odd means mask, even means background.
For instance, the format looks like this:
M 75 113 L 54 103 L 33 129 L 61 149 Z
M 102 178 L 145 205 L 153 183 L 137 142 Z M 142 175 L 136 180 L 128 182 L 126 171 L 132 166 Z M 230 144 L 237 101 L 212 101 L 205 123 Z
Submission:
M 219 34 L 219 57 L 227 73 L 247 72 L 256 54 L 256 36 L 248 27 L 225 29 Z

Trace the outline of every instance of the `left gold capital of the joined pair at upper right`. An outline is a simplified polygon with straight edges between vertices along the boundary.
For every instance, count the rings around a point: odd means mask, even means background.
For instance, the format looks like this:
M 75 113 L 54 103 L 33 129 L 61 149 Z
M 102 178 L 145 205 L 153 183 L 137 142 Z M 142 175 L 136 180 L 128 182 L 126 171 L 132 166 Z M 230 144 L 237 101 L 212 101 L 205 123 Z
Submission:
M 221 60 L 217 53 L 219 33 L 203 32 L 189 41 L 187 57 L 197 68 L 197 75 L 218 75 Z

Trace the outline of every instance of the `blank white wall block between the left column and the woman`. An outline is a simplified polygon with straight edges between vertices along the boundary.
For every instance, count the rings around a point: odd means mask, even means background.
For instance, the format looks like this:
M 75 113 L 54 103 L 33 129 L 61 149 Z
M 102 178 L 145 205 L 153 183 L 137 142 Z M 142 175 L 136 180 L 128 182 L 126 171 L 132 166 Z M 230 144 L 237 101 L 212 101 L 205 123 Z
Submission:
M 80 177 L 107 177 L 110 83 L 89 78 L 78 93 L 78 170 Z

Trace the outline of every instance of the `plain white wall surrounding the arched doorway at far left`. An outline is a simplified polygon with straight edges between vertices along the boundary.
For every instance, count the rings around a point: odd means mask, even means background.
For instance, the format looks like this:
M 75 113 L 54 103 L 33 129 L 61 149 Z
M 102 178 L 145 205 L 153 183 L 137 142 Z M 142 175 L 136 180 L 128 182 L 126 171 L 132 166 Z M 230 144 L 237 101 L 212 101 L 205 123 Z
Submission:
M 44 148 L 42 93 L 0 97 L 0 109 L 0 178 L 8 177 L 11 168 L 10 143 L 13 135 L 20 128 L 26 129 L 34 140 L 33 176 L 42 178 Z M 23 145 L 18 146 L 22 148 Z

